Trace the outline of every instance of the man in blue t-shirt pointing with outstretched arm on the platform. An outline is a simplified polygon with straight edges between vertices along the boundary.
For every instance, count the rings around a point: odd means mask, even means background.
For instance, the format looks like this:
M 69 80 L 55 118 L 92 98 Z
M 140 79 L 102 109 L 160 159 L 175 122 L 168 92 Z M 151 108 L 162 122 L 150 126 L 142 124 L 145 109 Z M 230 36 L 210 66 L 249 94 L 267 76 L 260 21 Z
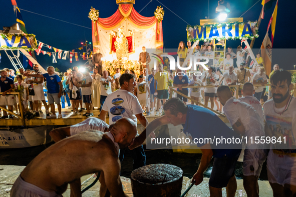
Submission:
M 62 116 L 62 106 L 60 103 L 60 98 L 62 96 L 63 83 L 61 81 L 60 76 L 55 73 L 55 68 L 53 66 L 49 66 L 47 68 L 47 73 L 45 73 L 45 74 L 25 73 L 24 75 L 46 78 L 48 102 L 51 105 L 51 110 L 53 113 L 50 116 L 47 116 L 47 118 L 57 118 L 56 110 L 55 110 L 55 103 L 58 105 L 58 110 L 59 110 L 58 118 L 62 118 L 63 116 Z

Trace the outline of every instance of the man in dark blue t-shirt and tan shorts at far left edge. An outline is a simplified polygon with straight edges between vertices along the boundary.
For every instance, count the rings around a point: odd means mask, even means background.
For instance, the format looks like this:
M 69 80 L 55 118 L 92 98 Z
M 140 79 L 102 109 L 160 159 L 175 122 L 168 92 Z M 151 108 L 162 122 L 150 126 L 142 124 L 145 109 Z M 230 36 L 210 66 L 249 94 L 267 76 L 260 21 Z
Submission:
M 8 105 L 8 109 L 10 111 L 13 111 L 13 105 L 16 103 L 16 98 L 14 94 L 7 95 L 8 92 L 12 91 L 14 86 L 14 80 L 8 77 L 8 72 L 6 70 L 0 70 L 0 92 L 2 94 L 0 95 L 0 105 L 4 108 L 6 108 L 6 105 Z M 5 110 L 3 110 L 3 116 L 1 119 L 8 118 L 8 114 Z M 10 115 L 10 118 L 13 118 L 14 115 Z

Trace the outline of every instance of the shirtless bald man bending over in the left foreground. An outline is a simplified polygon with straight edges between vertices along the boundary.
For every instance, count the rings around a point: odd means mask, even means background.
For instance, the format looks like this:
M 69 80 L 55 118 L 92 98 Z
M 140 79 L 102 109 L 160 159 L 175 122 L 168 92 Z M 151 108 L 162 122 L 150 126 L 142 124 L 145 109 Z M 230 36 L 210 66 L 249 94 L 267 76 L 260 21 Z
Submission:
M 83 131 L 50 146 L 33 159 L 15 181 L 11 196 L 81 196 L 80 177 L 101 172 L 100 196 L 127 196 L 119 176 L 119 148 L 133 144 L 136 123 L 116 121 L 110 132 Z

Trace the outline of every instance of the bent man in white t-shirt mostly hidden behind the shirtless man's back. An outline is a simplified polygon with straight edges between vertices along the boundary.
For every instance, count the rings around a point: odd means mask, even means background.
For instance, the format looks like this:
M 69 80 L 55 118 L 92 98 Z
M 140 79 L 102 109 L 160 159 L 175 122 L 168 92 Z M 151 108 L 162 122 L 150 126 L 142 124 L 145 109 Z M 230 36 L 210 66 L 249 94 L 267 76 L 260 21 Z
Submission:
M 86 130 L 99 130 L 102 132 L 108 132 L 110 131 L 112 126 L 109 127 L 109 124 L 104 122 L 103 120 L 97 118 L 97 117 L 89 117 L 82 122 L 79 122 L 77 124 L 56 128 L 52 131 L 50 131 L 50 135 L 53 138 L 55 142 L 58 142 L 66 137 L 70 137 L 72 135 L 78 134 L 82 131 Z

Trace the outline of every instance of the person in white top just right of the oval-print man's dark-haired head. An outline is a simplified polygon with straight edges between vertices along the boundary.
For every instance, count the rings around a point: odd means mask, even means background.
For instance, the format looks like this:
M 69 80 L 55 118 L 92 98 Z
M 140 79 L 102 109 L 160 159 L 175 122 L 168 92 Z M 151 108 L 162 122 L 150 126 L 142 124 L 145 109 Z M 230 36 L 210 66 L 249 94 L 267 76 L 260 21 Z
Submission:
M 144 69 L 147 69 L 147 68 L 144 68 Z M 144 81 L 143 75 L 139 76 L 139 82 L 137 82 L 137 85 L 135 87 L 135 93 L 137 94 L 137 98 L 141 106 L 144 106 L 146 108 L 147 115 L 150 115 L 150 112 L 149 112 L 150 87 L 148 82 Z

